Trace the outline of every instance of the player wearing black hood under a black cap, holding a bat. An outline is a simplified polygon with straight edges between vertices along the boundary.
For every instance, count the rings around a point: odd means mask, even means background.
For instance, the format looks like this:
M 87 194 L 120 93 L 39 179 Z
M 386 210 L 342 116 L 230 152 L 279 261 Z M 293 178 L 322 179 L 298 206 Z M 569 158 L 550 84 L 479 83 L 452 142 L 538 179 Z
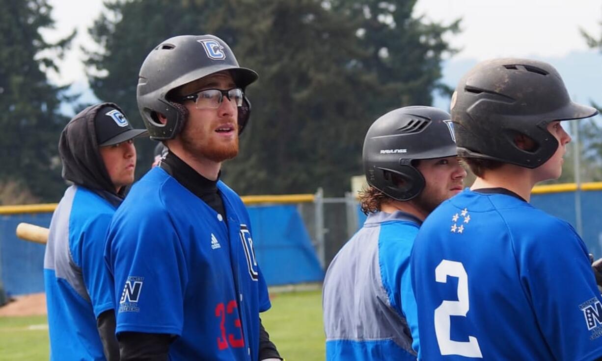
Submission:
M 52 214 L 44 281 L 51 360 L 119 360 L 104 244 L 134 181 L 132 129 L 113 103 L 89 106 L 61 133 L 63 178 L 73 183 Z

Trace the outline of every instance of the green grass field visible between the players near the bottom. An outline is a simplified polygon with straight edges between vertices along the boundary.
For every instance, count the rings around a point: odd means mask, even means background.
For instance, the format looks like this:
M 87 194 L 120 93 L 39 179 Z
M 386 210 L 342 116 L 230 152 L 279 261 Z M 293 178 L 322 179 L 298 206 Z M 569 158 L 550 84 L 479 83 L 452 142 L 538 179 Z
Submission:
M 320 291 L 273 293 L 261 320 L 287 361 L 324 360 Z M 48 360 L 46 316 L 0 317 L 0 361 L 8 360 Z

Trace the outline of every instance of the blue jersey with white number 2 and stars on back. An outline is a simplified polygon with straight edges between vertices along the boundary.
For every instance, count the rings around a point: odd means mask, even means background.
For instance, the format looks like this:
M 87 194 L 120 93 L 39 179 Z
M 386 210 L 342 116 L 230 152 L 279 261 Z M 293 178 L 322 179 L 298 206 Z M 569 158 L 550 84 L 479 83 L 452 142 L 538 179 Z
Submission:
M 425 360 L 594 360 L 602 304 L 569 223 L 465 190 L 423 223 L 412 284 Z

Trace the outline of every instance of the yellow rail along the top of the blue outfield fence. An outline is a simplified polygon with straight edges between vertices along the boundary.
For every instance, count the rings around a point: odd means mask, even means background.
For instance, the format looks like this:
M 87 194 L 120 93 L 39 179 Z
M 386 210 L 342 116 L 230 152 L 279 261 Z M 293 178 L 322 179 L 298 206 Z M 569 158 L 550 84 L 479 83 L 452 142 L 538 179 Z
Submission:
M 602 182 L 582 183 L 581 190 L 602 190 Z M 577 184 L 546 184 L 545 186 L 533 187 L 532 194 L 575 192 Z M 244 204 L 291 204 L 291 203 L 311 203 L 315 200 L 315 195 L 306 194 L 288 194 L 288 195 L 252 195 L 242 196 Z M 23 205 L 1 205 L 0 214 L 20 214 L 20 213 L 51 213 L 57 208 L 57 203 L 46 204 L 23 204 Z

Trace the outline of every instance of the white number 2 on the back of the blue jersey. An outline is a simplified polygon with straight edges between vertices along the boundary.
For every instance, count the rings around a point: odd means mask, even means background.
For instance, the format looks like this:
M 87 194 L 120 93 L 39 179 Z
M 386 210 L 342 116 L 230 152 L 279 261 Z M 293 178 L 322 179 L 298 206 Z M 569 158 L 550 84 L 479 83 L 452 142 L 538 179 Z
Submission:
M 459 355 L 464 357 L 480 357 L 479 341 L 468 336 L 468 342 L 452 341 L 450 338 L 450 316 L 466 317 L 468 309 L 468 275 L 461 262 L 444 259 L 435 268 L 437 282 L 446 283 L 447 276 L 458 278 L 458 301 L 444 300 L 435 309 L 435 335 L 442 355 Z

